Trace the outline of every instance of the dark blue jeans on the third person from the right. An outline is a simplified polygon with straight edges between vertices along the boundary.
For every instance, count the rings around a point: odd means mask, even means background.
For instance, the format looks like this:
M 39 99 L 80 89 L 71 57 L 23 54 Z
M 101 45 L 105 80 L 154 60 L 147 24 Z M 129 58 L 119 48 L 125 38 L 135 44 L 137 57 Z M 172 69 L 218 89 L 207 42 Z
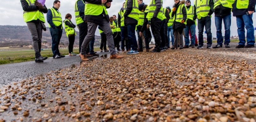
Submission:
M 198 19 L 198 40 L 199 45 L 204 45 L 204 26 L 207 34 L 207 45 L 212 45 L 212 33 L 211 33 L 211 16 L 205 16 Z

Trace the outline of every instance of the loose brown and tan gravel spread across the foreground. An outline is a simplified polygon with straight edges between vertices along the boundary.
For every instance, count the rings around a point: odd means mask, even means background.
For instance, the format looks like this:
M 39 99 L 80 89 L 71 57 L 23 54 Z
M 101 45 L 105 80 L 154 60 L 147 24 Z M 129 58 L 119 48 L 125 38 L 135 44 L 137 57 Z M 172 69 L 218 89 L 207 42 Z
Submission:
M 255 62 L 189 51 L 93 59 L 1 87 L 0 122 L 255 122 Z

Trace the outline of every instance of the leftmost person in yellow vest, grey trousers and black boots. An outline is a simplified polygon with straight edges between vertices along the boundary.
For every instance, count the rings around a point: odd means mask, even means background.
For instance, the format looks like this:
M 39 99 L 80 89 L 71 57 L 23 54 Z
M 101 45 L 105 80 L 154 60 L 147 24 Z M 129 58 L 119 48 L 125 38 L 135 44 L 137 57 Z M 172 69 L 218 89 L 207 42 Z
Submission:
M 46 6 L 37 2 L 36 0 L 21 0 L 21 6 L 24 10 L 23 18 L 29 28 L 32 35 L 33 47 L 35 51 L 35 62 L 42 63 L 47 57 L 42 57 L 41 46 L 42 46 L 42 30 L 43 24 L 45 23 L 44 14 L 47 13 Z

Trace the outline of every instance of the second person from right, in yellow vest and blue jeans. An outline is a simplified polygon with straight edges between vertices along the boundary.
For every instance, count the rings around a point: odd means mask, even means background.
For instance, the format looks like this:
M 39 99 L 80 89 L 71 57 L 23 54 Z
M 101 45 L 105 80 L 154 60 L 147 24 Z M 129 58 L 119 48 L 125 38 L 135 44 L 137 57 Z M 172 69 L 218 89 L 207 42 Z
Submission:
M 231 9 L 235 0 L 211 0 L 210 6 L 215 14 L 215 26 L 217 34 L 217 45 L 212 48 L 221 48 L 223 43 L 222 36 L 222 20 L 225 27 L 225 42 L 226 48 L 230 48 L 230 26 L 231 26 Z

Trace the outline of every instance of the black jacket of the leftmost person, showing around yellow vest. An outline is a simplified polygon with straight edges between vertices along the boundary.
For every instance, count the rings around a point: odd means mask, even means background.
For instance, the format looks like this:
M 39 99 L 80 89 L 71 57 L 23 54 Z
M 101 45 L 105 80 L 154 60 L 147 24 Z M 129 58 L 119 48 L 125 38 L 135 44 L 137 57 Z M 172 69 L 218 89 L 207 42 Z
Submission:
M 30 11 L 37 11 L 39 10 L 39 7 L 37 5 L 29 5 L 28 2 L 26 0 L 21 0 L 21 6 L 22 6 L 22 9 L 26 12 L 30 12 Z M 48 9 L 46 8 L 46 6 L 44 5 L 44 9 L 40 9 L 39 10 L 40 12 L 43 12 L 43 13 L 47 13 L 48 12 Z M 32 20 L 30 22 L 39 22 L 40 20 Z

